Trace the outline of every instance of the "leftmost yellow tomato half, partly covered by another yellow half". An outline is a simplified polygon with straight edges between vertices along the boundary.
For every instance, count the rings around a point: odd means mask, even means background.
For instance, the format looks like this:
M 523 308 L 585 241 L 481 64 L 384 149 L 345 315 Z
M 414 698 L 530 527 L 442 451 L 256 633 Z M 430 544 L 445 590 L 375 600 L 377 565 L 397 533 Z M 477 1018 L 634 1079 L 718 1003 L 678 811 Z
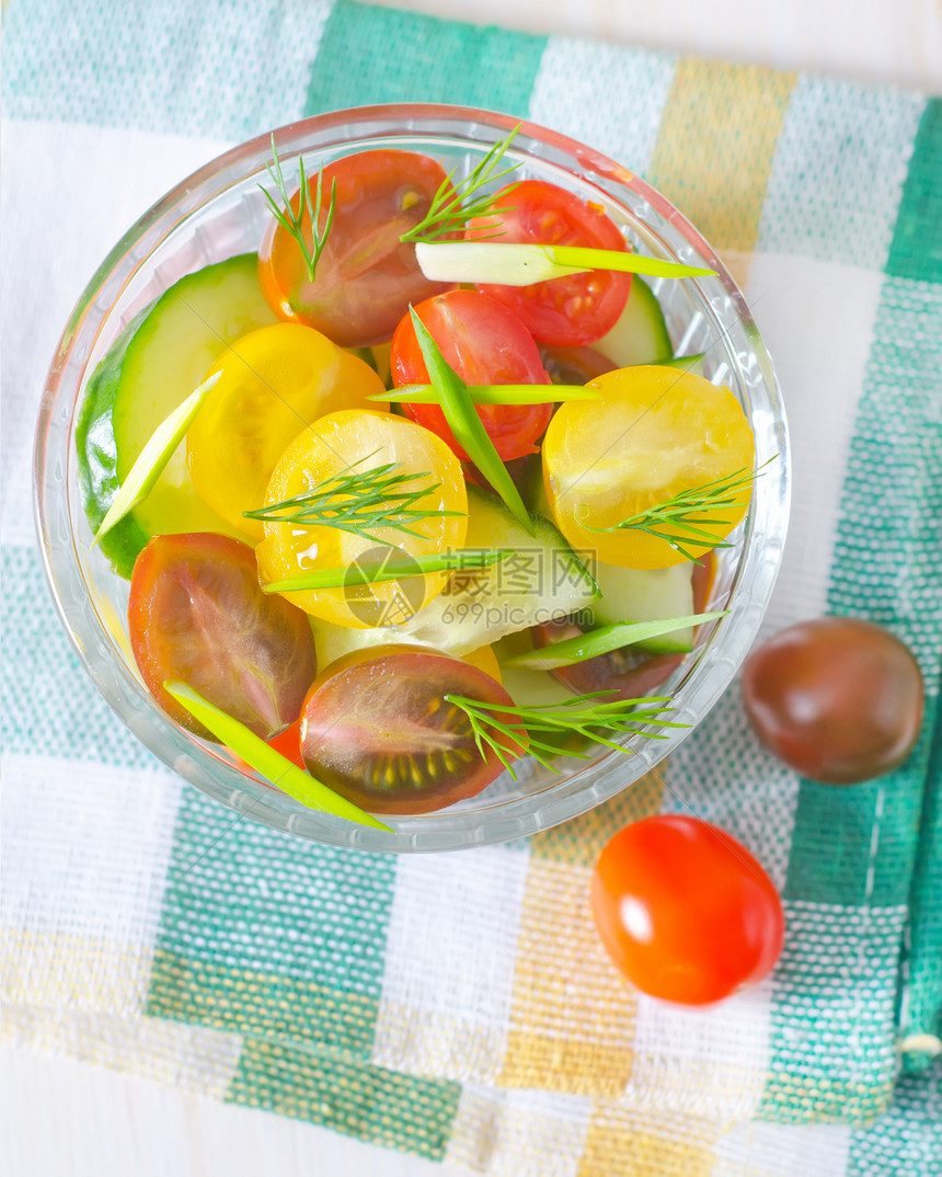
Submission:
M 187 463 L 200 497 L 246 537 L 265 503 L 275 463 L 310 421 L 339 408 L 382 412 L 373 368 L 313 327 L 281 322 L 238 339 L 207 372 L 221 373 L 187 434 Z

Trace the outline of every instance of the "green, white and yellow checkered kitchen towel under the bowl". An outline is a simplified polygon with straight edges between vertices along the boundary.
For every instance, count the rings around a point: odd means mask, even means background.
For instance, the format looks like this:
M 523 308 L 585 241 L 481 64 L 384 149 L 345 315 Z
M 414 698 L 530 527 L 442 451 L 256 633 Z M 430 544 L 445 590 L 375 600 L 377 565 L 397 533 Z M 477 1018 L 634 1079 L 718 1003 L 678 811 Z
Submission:
M 942 101 L 348 0 L 8 0 L 5 25 L 6 1033 L 488 1173 L 942 1172 Z M 590 142 L 726 257 L 795 450 L 767 632 L 830 612 L 900 634 L 928 690 L 903 767 L 801 779 L 731 690 L 604 810 L 394 859 L 234 819 L 96 696 L 28 505 L 72 302 L 226 146 L 397 100 Z M 788 920 L 771 978 L 706 1011 L 634 992 L 586 905 L 614 829 L 688 805 L 750 847 Z

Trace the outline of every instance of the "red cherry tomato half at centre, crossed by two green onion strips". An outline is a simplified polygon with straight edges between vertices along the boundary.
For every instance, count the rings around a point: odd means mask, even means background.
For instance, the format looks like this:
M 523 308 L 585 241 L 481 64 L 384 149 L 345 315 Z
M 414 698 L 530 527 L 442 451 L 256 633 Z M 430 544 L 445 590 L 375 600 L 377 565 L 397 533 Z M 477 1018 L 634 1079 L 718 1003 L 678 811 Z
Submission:
M 533 335 L 507 307 L 477 291 L 449 291 L 415 307 L 442 355 L 466 384 L 549 384 Z M 393 383 L 427 384 L 428 368 L 422 359 L 412 317 L 406 315 L 393 335 L 390 352 Z M 437 433 L 459 458 L 468 454 L 455 441 L 437 405 L 403 405 L 414 421 Z M 497 453 L 505 460 L 534 453 L 553 405 L 479 405 Z

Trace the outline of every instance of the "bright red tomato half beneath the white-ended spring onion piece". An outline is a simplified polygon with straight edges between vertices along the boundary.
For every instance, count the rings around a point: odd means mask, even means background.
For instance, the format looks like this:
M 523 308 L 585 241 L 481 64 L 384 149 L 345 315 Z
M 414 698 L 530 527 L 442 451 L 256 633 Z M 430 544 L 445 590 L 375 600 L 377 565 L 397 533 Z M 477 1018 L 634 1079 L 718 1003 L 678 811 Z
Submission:
M 523 180 L 494 198 L 487 213 L 468 221 L 466 237 L 527 245 L 579 245 L 624 251 L 624 238 L 601 206 L 587 204 L 546 180 Z M 516 312 L 543 344 L 592 344 L 607 334 L 624 310 L 632 275 L 594 270 L 533 286 L 481 285 Z

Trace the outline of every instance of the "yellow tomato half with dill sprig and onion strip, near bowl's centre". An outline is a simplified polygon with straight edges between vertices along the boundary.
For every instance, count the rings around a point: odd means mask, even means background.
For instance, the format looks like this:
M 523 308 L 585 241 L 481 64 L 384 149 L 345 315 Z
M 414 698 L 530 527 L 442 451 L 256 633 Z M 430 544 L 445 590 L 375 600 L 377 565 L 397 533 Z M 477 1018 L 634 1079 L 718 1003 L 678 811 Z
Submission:
M 355 571 L 386 560 L 408 564 L 409 557 L 463 547 L 468 498 L 461 464 L 441 438 L 392 413 L 346 410 L 314 421 L 279 459 L 266 503 L 285 503 L 338 476 L 367 473 L 390 464 L 393 468 L 381 477 L 421 476 L 400 490 L 428 487 L 428 493 L 412 503 L 409 510 L 433 514 L 408 519 L 408 532 L 393 526 L 350 531 L 322 524 L 266 521 L 265 539 L 256 550 L 261 583 L 273 584 L 318 568 Z M 348 500 L 347 494 L 336 498 L 338 503 Z M 376 506 L 382 508 L 383 504 Z M 339 587 L 286 591 L 285 596 L 314 617 L 363 630 L 407 621 L 441 592 L 447 579 L 447 572 L 433 572 L 368 584 L 350 580 Z

